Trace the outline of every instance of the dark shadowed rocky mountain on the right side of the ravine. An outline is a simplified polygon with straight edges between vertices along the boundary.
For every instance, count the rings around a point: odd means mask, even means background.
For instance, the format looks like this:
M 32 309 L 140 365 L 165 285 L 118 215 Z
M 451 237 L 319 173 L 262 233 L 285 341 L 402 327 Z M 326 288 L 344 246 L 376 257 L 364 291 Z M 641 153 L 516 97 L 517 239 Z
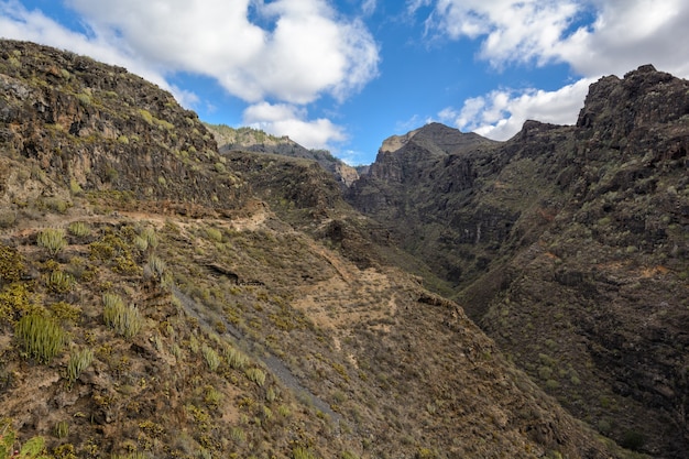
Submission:
M 572 127 L 391 138 L 347 198 L 570 413 L 682 458 L 688 151 L 689 83 L 645 65 L 593 84 Z

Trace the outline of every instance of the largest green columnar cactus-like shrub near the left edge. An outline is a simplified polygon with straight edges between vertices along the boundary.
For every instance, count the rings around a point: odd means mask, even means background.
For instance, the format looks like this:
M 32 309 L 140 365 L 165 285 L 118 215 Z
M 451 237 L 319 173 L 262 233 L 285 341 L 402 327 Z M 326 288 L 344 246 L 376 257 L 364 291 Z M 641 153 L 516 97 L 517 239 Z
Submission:
M 48 363 L 65 346 L 65 330 L 37 312 L 22 317 L 14 335 L 23 343 L 26 356 L 42 363 Z

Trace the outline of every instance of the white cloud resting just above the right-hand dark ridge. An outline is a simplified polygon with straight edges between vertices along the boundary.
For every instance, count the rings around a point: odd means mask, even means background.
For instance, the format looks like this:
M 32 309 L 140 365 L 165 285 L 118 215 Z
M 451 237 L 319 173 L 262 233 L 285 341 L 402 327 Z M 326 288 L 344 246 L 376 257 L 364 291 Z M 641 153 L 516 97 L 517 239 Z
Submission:
M 528 119 L 572 124 L 594 80 L 582 78 L 556 91 L 494 90 L 482 97 L 467 99 L 460 110 L 446 108 L 438 113 L 438 118 L 462 131 L 473 131 L 493 140 L 510 139 Z

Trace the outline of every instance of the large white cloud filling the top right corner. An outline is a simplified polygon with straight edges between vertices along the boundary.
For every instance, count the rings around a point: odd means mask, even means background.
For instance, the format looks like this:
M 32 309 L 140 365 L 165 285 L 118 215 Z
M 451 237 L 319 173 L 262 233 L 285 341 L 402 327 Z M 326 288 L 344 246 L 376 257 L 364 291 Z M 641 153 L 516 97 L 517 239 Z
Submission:
M 689 77 L 686 0 L 407 1 L 412 12 L 428 6 L 429 35 L 480 40 L 478 56 L 496 68 L 557 62 L 590 77 L 652 63 Z

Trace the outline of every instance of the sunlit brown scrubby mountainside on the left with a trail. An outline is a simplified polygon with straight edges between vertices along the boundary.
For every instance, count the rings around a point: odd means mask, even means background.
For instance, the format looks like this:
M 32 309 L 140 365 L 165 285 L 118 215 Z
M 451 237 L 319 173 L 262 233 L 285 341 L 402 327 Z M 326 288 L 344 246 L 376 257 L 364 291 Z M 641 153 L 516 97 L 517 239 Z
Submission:
M 379 242 L 315 162 L 221 154 L 45 46 L 0 41 L 0 87 L 1 457 L 638 457 L 456 303 L 353 263 Z

